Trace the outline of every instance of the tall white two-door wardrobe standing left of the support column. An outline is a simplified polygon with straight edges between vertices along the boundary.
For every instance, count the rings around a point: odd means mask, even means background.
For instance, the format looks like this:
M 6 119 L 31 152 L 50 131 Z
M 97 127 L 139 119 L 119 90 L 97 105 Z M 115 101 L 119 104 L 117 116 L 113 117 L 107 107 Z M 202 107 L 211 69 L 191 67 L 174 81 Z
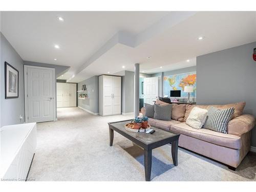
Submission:
M 99 115 L 121 114 L 121 77 L 99 76 Z

